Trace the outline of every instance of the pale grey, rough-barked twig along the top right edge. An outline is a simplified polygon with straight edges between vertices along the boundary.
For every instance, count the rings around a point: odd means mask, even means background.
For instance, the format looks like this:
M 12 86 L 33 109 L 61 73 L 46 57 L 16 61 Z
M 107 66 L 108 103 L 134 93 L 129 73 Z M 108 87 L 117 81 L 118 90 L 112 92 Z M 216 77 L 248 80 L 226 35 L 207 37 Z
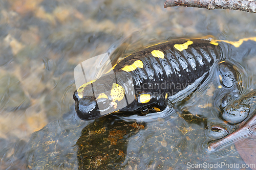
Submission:
M 167 7 L 197 7 L 213 9 L 232 9 L 256 13 L 256 2 L 254 0 L 166 0 L 164 8 Z

